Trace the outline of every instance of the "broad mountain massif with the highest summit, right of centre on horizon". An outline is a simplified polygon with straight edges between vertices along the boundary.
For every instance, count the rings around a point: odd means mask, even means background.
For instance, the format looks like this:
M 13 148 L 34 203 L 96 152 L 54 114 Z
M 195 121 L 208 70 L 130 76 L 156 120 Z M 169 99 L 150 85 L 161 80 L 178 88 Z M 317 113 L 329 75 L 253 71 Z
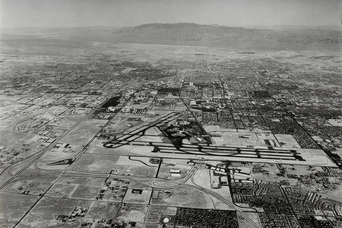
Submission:
M 276 31 L 273 29 L 257 29 L 228 27 L 220 25 L 199 25 L 195 23 L 175 24 L 143 24 L 125 27 L 113 34 L 130 42 L 144 43 L 151 41 L 214 41 L 214 42 L 251 42 L 268 41 L 298 44 L 340 44 L 342 32 L 322 29 L 300 29 Z

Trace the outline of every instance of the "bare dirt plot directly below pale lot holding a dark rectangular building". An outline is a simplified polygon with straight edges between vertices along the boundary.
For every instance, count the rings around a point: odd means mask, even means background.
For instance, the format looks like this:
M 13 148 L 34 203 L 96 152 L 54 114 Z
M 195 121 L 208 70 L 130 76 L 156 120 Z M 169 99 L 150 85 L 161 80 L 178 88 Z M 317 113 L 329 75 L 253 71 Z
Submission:
M 144 204 L 129 204 L 119 207 L 115 219 L 133 222 L 144 222 L 148 206 Z

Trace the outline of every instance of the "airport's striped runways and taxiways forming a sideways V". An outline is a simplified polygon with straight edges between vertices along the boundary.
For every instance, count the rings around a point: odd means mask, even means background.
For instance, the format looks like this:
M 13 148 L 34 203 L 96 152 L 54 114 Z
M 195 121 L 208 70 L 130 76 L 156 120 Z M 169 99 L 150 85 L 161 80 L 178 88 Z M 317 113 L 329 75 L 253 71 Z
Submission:
M 240 157 L 240 158 L 251 158 L 251 159 L 281 159 L 281 160 L 297 160 L 305 161 L 296 150 L 284 149 L 284 148 L 273 148 L 273 149 L 257 149 L 247 147 L 227 147 L 215 144 L 184 144 L 178 145 L 174 143 L 165 142 L 154 142 L 151 140 L 138 140 L 142 136 L 157 136 L 145 134 L 146 130 L 152 127 L 156 127 L 162 132 L 161 127 L 169 126 L 170 122 L 181 117 L 182 114 L 172 112 L 169 114 L 163 114 L 150 121 L 141 123 L 134 127 L 129 132 L 120 135 L 118 138 L 111 140 L 104 144 L 107 148 L 119 148 L 124 145 L 131 146 L 152 146 L 154 150 L 152 153 L 174 153 L 174 154 L 189 154 L 189 155 L 209 155 L 209 156 L 220 156 L 220 157 Z M 167 137 L 163 133 L 162 136 Z

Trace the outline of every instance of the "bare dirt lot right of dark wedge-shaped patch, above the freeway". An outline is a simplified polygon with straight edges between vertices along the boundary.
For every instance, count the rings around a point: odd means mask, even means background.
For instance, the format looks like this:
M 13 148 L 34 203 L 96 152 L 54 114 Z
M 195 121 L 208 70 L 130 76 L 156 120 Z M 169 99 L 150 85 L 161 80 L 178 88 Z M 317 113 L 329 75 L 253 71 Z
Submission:
M 117 155 L 83 154 L 80 159 L 70 165 L 70 170 L 80 170 L 94 173 L 109 173 L 118 161 Z

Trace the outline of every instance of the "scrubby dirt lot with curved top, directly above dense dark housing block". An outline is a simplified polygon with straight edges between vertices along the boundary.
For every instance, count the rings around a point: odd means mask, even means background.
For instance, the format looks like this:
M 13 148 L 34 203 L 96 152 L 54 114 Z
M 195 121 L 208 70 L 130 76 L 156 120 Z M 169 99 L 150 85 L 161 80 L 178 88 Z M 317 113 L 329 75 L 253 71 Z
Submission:
M 159 191 L 159 194 L 156 193 L 157 191 Z M 206 208 L 205 199 L 205 195 L 200 191 L 180 187 L 165 191 L 154 190 L 150 204 Z

